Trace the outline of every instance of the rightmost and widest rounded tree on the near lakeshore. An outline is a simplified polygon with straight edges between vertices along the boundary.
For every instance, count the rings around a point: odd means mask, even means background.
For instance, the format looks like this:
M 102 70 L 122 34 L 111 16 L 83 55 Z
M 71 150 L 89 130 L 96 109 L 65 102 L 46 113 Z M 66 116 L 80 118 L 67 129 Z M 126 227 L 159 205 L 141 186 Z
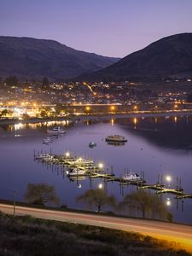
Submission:
M 166 219 L 168 216 L 166 204 L 161 201 L 160 197 L 145 190 L 137 190 L 129 195 L 125 195 L 124 200 L 120 202 L 119 206 L 140 213 L 143 218 Z

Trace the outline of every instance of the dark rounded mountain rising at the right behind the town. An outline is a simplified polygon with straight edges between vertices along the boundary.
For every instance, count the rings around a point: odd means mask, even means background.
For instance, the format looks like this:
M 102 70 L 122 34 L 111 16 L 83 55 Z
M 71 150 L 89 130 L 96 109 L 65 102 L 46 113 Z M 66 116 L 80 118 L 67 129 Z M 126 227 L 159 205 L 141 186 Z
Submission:
M 192 33 L 162 38 L 109 67 L 79 79 L 147 80 L 167 76 L 192 76 Z

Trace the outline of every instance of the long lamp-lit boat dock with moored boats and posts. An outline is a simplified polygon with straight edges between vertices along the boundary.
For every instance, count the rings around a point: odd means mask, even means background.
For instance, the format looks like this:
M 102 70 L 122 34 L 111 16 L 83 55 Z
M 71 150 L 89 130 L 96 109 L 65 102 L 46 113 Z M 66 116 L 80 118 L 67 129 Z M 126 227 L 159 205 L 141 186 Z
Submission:
M 141 177 L 137 179 L 125 179 L 124 177 L 116 177 L 113 172 L 105 172 L 103 165 L 101 163 L 95 165 L 94 161 L 87 158 L 78 157 L 76 155 L 71 155 L 70 153 L 65 153 L 62 155 L 55 155 L 50 153 L 36 153 L 34 150 L 34 160 L 41 161 L 42 163 L 47 163 L 48 165 L 60 165 L 64 166 L 67 170 L 76 170 L 73 175 L 70 175 L 68 172 L 67 176 L 70 179 L 79 178 L 79 177 L 89 177 L 92 178 L 104 178 L 104 182 L 119 182 L 121 187 L 125 185 L 134 185 L 137 186 L 137 189 L 153 189 L 156 190 L 157 194 L 172 194 L 176 195 L 176 199 L 192 199 L 192 194 L 184 193 L 184 189 L 181 186 L 181 179 L 177 178 L 176 189 L 165 188 L 165 185 L 162 183 L 162 176 L 160 181 L 160 175 L 158 175 L 158 181 L 154 184 L 148 184 L 144 179 L 144 172 L 141 173 Z M 64 170 L 63 170 L 64 176 Z

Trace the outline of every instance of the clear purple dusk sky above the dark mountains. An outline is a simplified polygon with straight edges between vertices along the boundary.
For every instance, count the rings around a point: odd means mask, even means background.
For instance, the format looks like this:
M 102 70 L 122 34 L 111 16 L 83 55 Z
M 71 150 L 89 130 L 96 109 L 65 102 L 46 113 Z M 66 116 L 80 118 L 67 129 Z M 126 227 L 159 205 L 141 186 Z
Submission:
M 192 0 L 0 0 L 0 35 L 123 57 L 192 32 Z

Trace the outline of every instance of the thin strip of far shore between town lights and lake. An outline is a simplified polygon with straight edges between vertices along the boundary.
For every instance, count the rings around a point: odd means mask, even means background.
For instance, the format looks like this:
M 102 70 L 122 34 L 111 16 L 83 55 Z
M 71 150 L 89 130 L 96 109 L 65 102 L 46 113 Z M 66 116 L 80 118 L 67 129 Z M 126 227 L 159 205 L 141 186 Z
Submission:
M 30 124 L 30 123 L 44 123 L 50 121 L 63 121 L 63 120 L 82 120 L 82 119 L 125 119 L 125 118 L 150 118 L 150 117 L 164 117 L 164 116 L 190 116 L 192 115 L 192 110 L 186 111 L 165 111 L 165 112 L 131 112 L 131 113 L 96 113 L 96 114 L 82 114 L 82 115 L 74 115 L 69 114 L 65 117 L 57 117 L 57 118 L 49 118 L 49 119 L 41 119 L 41 118 L 33 118 L 33 119 L 0 119 L 0 125 L 15 125 L 15 124 Z

